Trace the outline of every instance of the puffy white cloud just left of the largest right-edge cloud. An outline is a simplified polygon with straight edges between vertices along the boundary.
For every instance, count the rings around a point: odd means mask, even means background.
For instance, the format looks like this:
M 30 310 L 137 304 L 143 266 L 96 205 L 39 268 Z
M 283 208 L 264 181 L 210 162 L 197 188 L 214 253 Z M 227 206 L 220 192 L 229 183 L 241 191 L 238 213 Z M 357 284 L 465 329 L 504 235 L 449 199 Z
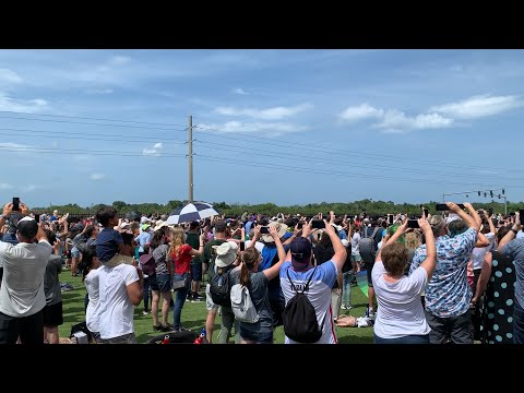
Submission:
M 400 110 L 388 110 L 382 117 L 380 123 L 374 124 L 377 128 L 390 131 L 408 131 L 446 128 L 453 124 L 453 119 L 448 119 L 439 114 L 422 114 L 415 117 L 408 117 Z

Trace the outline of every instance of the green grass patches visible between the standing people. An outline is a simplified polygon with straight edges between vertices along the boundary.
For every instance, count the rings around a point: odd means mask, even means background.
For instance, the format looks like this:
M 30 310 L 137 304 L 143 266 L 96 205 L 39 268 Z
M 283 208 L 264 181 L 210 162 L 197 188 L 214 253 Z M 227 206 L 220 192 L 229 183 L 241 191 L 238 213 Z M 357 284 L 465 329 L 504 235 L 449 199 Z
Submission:
M 85 286 L 82 278 L 72 277 L 69 270 L 62 271 L 60 274 L 60 282 L 70 283 L 74 290 L 62 293 L 63 301 L 63 324 L 59 327 L 60 337 L 69 337 L 71 325 L 85 320 L 84 313 L 84 296 Z M 352 287 L 352 310 L 341 310 L 342 313 L 361 317 L 365 313 L 368 303 L 367 297 L 358 289 Z M 151 314 L 143 315 L 143 301 L 134 310 L 134 333 L 139 343 L 145 343 L 148 338 L 162 334 L 153 331 L 153 318 Z M 200 331 L 205 326 L 205 319 L 207 310 L 205 309 L 205 301 L 202 302 L 186 302 L 182 309 L 182 324 L 184 327 Z M 162 318 L 159 315 L 159 318 Z M 172 323 L 172 309 L 169 310 L 169 323 Z M 221 331 L 221 317 L 217 315 L 215 320 L 215 330 L 213 332 L 213 342 L 218 341 L 218 333 Z M 371 344 L 373 342 L 372 327 L 336 327 L 336 335 L 341 344 Z M 275 343 L 284 343 L 284 330 L 278 326 L 275 331 Z

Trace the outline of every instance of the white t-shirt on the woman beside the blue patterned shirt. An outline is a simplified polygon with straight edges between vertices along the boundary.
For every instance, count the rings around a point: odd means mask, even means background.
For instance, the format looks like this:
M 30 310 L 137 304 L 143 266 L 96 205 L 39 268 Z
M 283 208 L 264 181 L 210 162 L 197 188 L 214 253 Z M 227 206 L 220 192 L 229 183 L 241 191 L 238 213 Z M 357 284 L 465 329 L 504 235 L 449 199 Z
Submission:
M 395 283 L 384 278 L 382 261 L 377 261 L 371 272 L 374 294 L 377 295 L 377 318 L 374 334 L 381 338 L 400 338 L 406 335 L 428 334 L 420 294 L 428 284 L 428 273 L 417 267 L 409 276 L 403 276 Z

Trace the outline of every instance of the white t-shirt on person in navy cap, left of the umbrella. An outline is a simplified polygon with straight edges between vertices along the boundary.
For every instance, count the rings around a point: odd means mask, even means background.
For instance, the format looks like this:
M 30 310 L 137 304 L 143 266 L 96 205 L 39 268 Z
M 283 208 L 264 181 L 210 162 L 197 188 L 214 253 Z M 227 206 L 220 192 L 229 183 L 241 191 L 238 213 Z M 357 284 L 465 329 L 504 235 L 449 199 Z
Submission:
M 136 281 L 136 267 L 129 264 L 100 266 L 98 270 L 100 338 L 115 338 L 134 332 L 134 305 L 129 300 L 128 285 Z

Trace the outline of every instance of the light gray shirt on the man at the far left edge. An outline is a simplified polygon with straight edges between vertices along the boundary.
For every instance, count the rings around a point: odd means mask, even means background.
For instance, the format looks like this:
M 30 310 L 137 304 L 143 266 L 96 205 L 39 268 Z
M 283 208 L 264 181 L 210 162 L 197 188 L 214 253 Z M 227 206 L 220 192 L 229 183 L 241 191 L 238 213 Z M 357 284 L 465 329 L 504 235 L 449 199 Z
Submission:
M 0 258 L 3 258 L 0 312 L 22 318 L 37 313 L 46 306 L 44 275 L 51 251 L 47 240 L 16 246 L 0 242 Z

